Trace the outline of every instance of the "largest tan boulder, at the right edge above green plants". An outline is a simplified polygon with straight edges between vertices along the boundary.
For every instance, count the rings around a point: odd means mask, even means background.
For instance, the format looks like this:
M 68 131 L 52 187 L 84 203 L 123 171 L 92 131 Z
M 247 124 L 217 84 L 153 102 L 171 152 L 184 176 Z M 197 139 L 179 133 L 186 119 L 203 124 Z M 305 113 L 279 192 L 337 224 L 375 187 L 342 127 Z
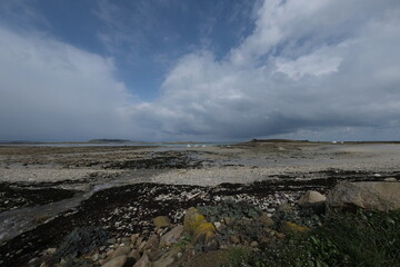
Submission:
M 400 182 L 359 181 L 337 185 L 327 198 L 330 208 L 400 209 Z

